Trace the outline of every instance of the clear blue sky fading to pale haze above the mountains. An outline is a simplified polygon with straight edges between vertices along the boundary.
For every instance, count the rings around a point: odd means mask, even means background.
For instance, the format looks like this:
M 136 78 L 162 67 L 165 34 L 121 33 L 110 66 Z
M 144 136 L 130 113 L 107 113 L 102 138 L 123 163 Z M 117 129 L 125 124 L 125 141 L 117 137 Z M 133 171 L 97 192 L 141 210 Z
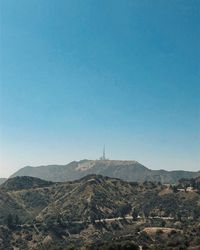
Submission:
M 1 0 L 0 177 L 98 159 L 200 170 L 199 0 Z

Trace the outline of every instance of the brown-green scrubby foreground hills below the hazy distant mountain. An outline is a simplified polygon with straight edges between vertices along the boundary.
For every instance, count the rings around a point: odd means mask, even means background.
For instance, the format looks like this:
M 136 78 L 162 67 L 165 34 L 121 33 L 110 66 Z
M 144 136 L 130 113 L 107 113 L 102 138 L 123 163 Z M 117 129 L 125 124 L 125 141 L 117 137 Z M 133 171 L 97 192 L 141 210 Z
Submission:
M 0 249 L 198 249 L 199 211 L 200 189 L 15 177 L 0 186 Z

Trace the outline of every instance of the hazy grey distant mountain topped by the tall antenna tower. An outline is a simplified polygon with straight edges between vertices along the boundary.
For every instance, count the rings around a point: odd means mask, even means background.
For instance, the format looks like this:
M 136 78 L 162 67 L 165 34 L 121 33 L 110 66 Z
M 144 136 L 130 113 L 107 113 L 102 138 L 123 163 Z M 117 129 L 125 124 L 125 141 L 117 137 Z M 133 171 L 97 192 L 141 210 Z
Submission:
M 24 167 L 14 173 L 16 176 L 33 176 L 49 181 L 73 181 L 89 174 L 100 174 L 126 181 L 157 181 L 176 183 L 180 178 L 195 178 L 199 172 L 151 170 L 137 161 L 82 160 L 67 165 Z

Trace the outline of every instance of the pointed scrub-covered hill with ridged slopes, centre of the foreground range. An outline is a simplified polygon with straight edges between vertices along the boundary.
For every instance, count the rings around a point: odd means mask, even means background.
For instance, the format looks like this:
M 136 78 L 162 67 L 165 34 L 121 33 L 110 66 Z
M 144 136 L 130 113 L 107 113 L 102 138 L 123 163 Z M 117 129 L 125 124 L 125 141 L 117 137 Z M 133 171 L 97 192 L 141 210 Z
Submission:
M 58 213 L 62 214 L 64 221 L 94 221 L 99 218 L 118 217 L 123 209 L 131 212 L 127 197 L 134 199 L 135 191 L 127 182 L 89 175 L 77 182 L 72 191 L 64 193 L 44 209 L 37 220 L 46 221 Z

